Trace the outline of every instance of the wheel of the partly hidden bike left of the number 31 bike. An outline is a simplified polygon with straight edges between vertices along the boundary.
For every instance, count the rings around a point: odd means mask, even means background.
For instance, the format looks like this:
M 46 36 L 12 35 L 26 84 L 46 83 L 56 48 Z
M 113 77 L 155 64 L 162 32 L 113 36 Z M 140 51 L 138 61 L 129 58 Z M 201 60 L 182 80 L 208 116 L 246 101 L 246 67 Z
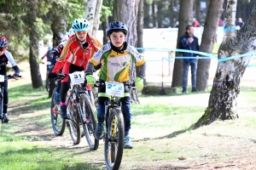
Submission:
M 65 131 L 65 121 L 61 118 L 60 105 L 55 105 L 55 90 L 51 96 L 51 105 L 50 105 L 50 119 L 51 119 L 51 125 L 52 129 L 56 136 L 61 136 Z

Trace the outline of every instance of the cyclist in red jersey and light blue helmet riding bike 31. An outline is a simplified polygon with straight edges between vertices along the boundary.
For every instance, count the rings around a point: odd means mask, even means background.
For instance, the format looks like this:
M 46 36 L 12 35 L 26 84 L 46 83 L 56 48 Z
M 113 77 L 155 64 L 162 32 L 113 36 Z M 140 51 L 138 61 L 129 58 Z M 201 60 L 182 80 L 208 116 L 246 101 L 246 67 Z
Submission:
M 61 57 L 57 60 L 53 71 L 49 73 L 49 77 L 56 77 L 62 67 L 62 74 L 84 71 L 89 59 L 98 51 L 99 48 L 102 48 L 101 42 L 87 32 L 90 28 L 88 20 L 73 20 L 72 28 L 75 35 L 69 37 L 67 40 L 67 43 L 61 53 Z M 67 119 L 66 96 L 69 85 L 69 77 L 66 77 L 61 81 L 61 117 L 63 119 Z M 91 90 L 91 88 L 88 87 L 88 90 Z

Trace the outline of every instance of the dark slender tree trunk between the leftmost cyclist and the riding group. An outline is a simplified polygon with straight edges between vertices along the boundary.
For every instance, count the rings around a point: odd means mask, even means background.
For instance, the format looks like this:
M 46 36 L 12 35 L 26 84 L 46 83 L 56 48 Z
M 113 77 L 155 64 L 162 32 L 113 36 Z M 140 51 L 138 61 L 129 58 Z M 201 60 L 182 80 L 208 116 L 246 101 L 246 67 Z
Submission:
M 40 88 L 43 86 L 42 77 L 38 65 L 38 33 L 37 33 L 37 7 L 36 0 L 28 0 L 27 7 L 30 9 L 27 12 L 29 18 L 26 20 L 29 26 L 29 64 L 32 78 L 32 88 Z

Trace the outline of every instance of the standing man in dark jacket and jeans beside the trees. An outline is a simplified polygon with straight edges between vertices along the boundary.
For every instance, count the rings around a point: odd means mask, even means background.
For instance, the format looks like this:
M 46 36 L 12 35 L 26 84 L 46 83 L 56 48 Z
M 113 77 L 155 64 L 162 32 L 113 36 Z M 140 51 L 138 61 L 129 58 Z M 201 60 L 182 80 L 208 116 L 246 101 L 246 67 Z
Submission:
M 188 86 L 188 72 L 189 66 L 191 66 L 191 82 L 192 82 L 192 92 L 197 92 L 196 88 L 196 70 L 197 70 L 197 59 L 198 54 L 192 51 L 201 51 L 198 44 L 198 38 L 194 36 L 194 26 L 186 26 L 186 32 L 183 37 L 180 38 L 179 48 L 191 50 L 191 53 L 183 52 L 183 57 L 190 57 L 190 59 L 183 59 L 183 94 L 187 93 Z

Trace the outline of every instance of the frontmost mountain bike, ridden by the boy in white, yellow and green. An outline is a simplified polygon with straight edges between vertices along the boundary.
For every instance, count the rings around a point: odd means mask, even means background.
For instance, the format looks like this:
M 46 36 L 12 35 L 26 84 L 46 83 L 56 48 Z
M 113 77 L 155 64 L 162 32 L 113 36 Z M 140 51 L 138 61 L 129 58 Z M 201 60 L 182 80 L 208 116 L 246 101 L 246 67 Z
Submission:
M 122 82 L 96 82 L 95 87 L 105 87 L 109 101 L 105 103 L 104 156 L 106 167 L 119 169 L 124 150 L 125 122 L 120 98 L 124 97 L 124 88 L 134 88 Z

